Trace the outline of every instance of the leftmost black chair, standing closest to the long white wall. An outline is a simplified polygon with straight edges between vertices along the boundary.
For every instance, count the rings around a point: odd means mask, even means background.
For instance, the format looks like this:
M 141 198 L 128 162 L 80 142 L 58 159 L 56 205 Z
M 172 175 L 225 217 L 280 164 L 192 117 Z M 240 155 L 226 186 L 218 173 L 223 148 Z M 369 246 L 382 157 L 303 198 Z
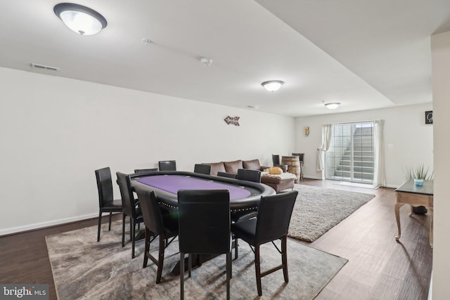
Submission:
M 95 170 L 98 189 L 98 230 L 97 230 L 97 242 L 100 241 L 101 231 L 101 216 L 105 212 L 110 213 L 110 221 L 108 230 L 111 230 L 111 218 L 113 212 L 122 212 L 122 200 L 114 200 L 113 196 L 113 179 L 111 178 L 111 169 L 105 167 Z

